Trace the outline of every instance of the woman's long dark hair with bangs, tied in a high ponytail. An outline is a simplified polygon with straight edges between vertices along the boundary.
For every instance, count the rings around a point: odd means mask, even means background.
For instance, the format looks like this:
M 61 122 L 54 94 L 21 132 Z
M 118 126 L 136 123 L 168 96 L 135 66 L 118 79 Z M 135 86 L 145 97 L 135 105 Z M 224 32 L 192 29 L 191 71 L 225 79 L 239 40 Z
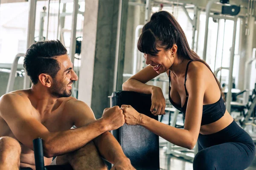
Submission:
M 177 45 L 177 57 L 181 61 L 183 59 L 199 61 L 204 63 L 210 71 L 209 65 L 190 49 L 189 43 L 180 24 L 175 18 L 167 11 L 159 11 L 151 16 L 148 23 L 142 28 L 142 34 L 138 41 L 138 49 L 145 54 L 156 55 L 158 54 L 157 44 L 163 46 L 165 50 L 169 50 L 174 44 Z M 212 73 L 213 74 L 213 73 Z M 220 82 L 215 77 L 221 91 L 221 96 L 224 99 L 224 94 Z

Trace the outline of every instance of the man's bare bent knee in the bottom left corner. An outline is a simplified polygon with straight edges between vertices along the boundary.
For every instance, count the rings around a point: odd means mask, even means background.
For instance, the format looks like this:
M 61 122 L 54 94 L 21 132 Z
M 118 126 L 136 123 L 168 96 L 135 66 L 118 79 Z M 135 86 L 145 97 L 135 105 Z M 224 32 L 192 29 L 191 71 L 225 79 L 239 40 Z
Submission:
M 0 170 L 19 170 L 21 147 L 16 139 L 0 137 Z

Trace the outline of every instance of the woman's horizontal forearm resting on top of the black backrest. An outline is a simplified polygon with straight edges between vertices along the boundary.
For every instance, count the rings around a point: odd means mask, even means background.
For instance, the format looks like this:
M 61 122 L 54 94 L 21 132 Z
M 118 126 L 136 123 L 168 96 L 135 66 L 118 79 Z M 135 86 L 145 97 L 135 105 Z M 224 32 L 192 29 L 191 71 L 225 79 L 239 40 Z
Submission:
M 157 88 L 153 85 L 146 85 L 136 79 L 128 79 L 122 85 L 122 90 L 124 91 L 135 91 L 143 94 L 152 94 L 154 88 Z

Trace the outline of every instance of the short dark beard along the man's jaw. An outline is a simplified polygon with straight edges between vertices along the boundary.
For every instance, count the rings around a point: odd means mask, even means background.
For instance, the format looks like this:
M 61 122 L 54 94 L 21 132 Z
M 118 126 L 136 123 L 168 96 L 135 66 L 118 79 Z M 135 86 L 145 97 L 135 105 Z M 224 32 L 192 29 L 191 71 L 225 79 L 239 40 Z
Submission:
M 61 97 L 69 97 L 72 94 L 72 90 L 67 91 L 67 85 L 60 84 L 57 81 L 55 81 L 55 84 L 53 84 L 51 91 L 51 95 L 57 98 Z

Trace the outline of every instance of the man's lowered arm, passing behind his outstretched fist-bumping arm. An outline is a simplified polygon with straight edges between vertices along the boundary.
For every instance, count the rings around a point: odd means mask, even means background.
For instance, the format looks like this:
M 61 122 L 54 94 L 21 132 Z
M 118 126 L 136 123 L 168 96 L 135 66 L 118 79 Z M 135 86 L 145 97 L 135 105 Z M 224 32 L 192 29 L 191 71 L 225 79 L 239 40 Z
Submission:
M 75 110 L 76 115 L 74 115 L 74 125 L 76 127 L 82 127 L 89 122 L 96 121 L 93 111 L 88 105 L 81 101 L 70 102 L 67 105 L 68 110 Z M 119 117 L 118 119 L 124 119 Z M 129 159 L 125 156 L 122 148 L 110 132 L 105 132 L 102 135 L 96 137 L 93 142 L 99 150 L 99 153 L 112 164 L 116 164 L 119 161 Z

